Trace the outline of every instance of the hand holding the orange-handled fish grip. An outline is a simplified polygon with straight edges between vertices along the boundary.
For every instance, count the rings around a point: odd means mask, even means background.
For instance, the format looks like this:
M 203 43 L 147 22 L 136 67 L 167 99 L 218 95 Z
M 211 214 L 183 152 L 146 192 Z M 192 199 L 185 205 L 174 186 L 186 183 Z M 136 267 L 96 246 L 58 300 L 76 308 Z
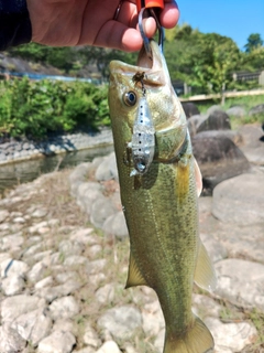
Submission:
M 138 51 L 142 38 L 136 28 L 135 1 L 124 0 L 114 19 L 120 0 L 28 0 L 32 41 L 54 46 L 95 45 Z M 174 0 L 165 0 L 161 24 L 176 25 L 179 11 Z M 144 23 L 147 36 L 155 33 L 153 18 Z

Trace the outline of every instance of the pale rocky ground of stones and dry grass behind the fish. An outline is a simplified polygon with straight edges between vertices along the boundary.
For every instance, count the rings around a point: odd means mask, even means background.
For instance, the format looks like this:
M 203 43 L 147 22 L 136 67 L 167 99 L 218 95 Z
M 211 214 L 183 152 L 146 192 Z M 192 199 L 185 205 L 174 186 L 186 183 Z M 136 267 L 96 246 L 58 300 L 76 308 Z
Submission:
M 213 295 L 194 311 L 216 352 L 264 352 L 264 173 L 200 197 Z M 164 320 L 147 287 L 124 290 L 129 239 L 114 156 L 43 175 L 0 201 L 1 353 L 162 352 Z

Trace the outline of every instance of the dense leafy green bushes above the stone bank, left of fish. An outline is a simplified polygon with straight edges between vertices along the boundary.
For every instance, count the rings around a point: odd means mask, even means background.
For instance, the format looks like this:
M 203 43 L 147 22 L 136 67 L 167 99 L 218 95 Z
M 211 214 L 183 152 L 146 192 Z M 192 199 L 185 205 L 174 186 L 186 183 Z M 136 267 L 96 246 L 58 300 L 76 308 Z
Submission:
M 51 131 L 109 125 L 106 87 L 89 83 L 0 82 L 0 133 L 44 138 Z

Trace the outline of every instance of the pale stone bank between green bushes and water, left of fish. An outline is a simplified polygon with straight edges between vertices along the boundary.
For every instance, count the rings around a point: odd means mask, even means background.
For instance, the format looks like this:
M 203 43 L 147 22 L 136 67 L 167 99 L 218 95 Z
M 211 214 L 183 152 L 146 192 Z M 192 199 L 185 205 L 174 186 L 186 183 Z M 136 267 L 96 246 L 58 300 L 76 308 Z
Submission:
M 98 132 L 50 136 L 41 142 L 29 139 L 10 139 L 0 143 L 0 165 L 112 143 L 112 131 L 109 128 L 102 128 Z

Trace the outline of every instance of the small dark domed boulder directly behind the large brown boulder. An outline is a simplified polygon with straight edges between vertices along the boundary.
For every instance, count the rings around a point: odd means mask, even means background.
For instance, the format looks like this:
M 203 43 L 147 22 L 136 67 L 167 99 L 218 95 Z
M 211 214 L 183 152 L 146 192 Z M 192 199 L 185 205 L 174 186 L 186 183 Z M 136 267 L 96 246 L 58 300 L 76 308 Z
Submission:
M 212 113 L 210 113 L 208 118 L 198 126 L 197 132 L 230 129 L 231 125 L 227 113 L 224 113 L 223 110 L 216 109 Z

